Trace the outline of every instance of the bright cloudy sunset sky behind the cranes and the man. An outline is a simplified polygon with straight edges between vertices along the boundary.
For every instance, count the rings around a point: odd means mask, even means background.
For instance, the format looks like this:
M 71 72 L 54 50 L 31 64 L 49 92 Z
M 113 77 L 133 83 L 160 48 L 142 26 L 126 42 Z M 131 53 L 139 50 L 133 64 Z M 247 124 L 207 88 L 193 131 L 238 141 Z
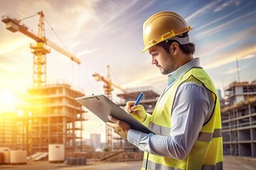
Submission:
M 151 64 L 148 52 L 141 54 L 142 25 L 159 11 L 174 11 L 193 27 L 189 32 L 196 44 L 193 56 L 200 58 L 201 67 L 217 89 L 238 81 L 238 68 L 240 81 L 255 80 L 255 6 L 255 0 L 0 0 L 0 15 L 23 19 L 43 11 L 46 38 L 81 60 L 76 64 L 51 49 L 47 55 L 47 81 L 65 80 L 90 95 L 104 94 L 103 83 L 95 81 L 92 74 L 106 76 L 107 64 L 114 84 L 164 89 L 166 76 Z M 36 15 L 22 23 L 37 33 L 38 20 Z M 33 86 L 31 42 L 22 33 L 6 30 L 0 22 L 0 113 L 14 110 L 18 96 Z M 118 89 L 113 92 L 118 93 Z M 105 131 L 104 123 L 92 113 L 87 118 L 85 137 Z

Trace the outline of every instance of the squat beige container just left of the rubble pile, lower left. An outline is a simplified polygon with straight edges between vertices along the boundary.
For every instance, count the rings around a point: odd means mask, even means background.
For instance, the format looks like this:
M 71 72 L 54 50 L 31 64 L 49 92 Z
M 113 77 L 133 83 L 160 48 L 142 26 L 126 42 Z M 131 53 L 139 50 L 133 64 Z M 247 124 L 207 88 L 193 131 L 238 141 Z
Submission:
M 26 150 L 13 150 L 11 151 L 11 164 L 26 164 L 27 160 Z

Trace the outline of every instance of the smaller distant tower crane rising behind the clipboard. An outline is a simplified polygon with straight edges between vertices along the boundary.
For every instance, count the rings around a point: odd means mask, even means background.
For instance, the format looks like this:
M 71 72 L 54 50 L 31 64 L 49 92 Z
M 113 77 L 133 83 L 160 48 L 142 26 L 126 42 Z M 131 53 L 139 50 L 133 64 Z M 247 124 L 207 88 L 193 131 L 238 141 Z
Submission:
M 103 86 L 103 89 L 105 91 L 105 95 L 107 96 L 107 98 L 110 98 L 110 100 L 112 100 L 112 91 L 114 90 L 112 88 L 115 87 L 121 91 L 123 91 L 124 93 L 126 93 L 127 91 L 125 91 L 122 86 L 118 86 L 117 84 L 113 84 L 111 79 L 110 79 L 110 65 L 107 65 L 107 78 L 102 77 L 100 74 L 92 74 L 93 77 L 95 77 L 96 81 L 103 81 L 105 83 L 105 85 Z M 109 126 L 106 125 L 106 145 L 107 145 L 107 149 L 112 149 L 112 128 L 110 128 Z

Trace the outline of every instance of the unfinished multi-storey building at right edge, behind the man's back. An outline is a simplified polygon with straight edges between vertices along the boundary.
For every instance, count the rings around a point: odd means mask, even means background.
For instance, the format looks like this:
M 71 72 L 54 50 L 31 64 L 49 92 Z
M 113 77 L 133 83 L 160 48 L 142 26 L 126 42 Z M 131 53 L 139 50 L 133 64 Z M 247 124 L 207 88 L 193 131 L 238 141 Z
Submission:
M 256 157 L 256 81 L 233 82 L 225 87 L 222 108 L 223 152 Z

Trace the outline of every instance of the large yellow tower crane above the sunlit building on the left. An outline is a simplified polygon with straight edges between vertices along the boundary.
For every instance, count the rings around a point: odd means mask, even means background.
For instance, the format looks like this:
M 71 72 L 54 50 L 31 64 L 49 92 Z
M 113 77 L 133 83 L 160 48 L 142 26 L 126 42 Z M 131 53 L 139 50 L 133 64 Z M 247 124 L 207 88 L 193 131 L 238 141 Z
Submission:
M 21 20 L 12 18 L 9 15 L 2 16 L 1 21 L 6 23 L 6 29 L 15 33 L 17 31 L 23 33 L 24 35 L 32 38 L 36 43 L 31 43 L 31 52 L 33 53 L 33 86 L 40 87 L 46 85 L 46 54 L 50 53 L 50 48 L 62 53 L 66 57 L 69 57 L 73 62 L 80 64 L 80 60 L 75 55 L 71 54 L 67 50 L 64 50 L 62 47 L 59 47 L 54 42 L 51 42 L 46 38 L 45 35 L 45 26 L 44 26 L 44 14 L 43 11 L 37 13 L 39 18 L 38 24 L 38 35 L 34 34 L 31 30 L 28 30 Z

